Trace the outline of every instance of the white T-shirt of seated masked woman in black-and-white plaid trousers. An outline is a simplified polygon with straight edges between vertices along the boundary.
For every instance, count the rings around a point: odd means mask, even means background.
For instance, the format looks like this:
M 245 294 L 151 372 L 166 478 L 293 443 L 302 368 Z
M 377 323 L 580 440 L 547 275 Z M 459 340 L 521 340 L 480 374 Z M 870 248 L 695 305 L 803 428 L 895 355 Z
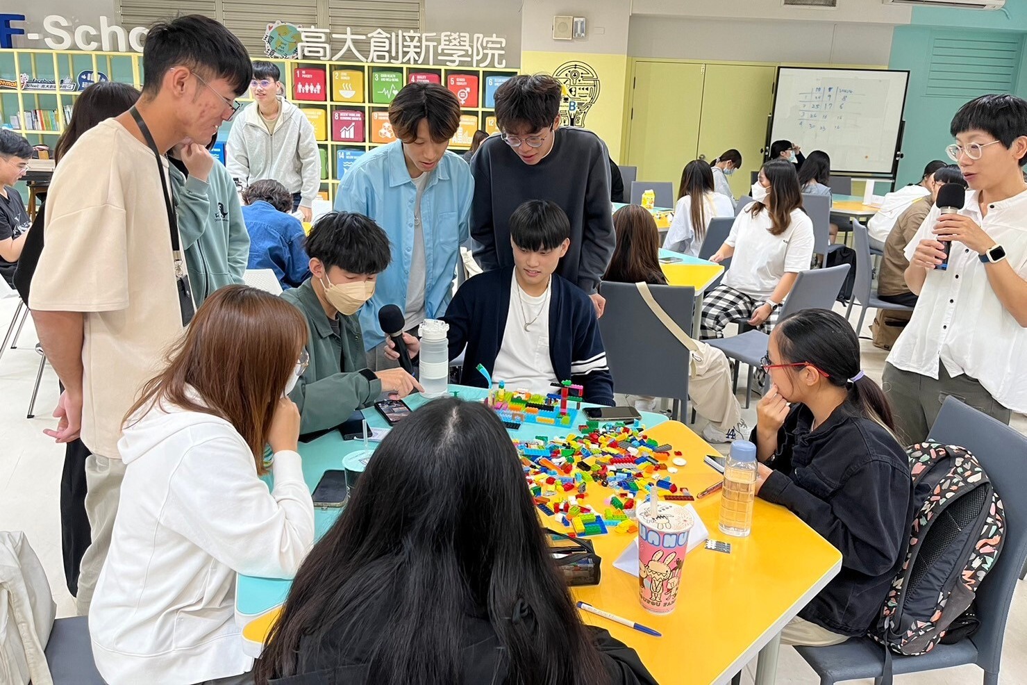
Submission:
M 786 273 L 807 270 L 813 259 L 813 222 L 805 212 L 793 210 L 781 235 L 771 234 L 770 227 L 769 210 L 754 217 L 747 208 L 724 241 L 734 248 L 724 284 L 755 300 L 766 300 Z

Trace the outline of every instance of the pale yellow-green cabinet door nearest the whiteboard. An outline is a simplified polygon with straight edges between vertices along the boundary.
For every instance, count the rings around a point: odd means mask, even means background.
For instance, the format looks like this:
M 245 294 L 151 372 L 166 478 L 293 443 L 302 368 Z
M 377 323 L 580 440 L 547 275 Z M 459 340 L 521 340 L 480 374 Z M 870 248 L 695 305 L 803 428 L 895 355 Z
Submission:
M 768 116 L 773 107 L 774 67 L 707 65 L 702 88 L 702 119 L 698 154 L 713 161 L 735 148 L 741 168 L 728 177 L 735 197 L 749 195 L 751 172 L 758 170 L 766 143 Z

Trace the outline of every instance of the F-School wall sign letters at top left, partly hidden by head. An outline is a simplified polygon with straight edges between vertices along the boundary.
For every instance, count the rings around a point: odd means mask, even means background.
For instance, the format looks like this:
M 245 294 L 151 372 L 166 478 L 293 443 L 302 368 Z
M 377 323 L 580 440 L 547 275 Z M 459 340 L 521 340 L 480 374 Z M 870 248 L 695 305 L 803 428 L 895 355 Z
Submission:
M 0 47 L 12 47 L 13 36 L 25 36 L 27 41 L 42 40 L 51 50 L 142 52 L 149 31 L 142 26 L 126 31 L 111 24 L 106 16 L 101 16 L 100 26 L 94 27 L 88 24 L 76 26 L 66 16 L 50 14 L 43 18 L 42 33 L 20 26 L 24 24 L 24 14 L 0 14 Z

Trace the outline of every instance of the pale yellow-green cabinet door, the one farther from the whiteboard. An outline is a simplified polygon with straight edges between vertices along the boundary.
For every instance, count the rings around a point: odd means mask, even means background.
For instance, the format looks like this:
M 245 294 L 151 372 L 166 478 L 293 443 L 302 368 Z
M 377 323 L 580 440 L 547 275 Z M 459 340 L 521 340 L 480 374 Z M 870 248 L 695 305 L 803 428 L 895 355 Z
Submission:
M 635 63 L 627 163 L 639 181 L 670 181 L 677 195 L 681 169 L 695 159 L 703 65 Z M 631 188 L 624 188 L 625 197 Z

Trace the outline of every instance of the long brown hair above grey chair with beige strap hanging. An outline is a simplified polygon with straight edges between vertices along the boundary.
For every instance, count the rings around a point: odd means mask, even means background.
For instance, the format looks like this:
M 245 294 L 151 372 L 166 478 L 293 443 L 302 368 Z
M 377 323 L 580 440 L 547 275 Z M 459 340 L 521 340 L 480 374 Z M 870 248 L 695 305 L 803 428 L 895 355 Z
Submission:
M 667 276 L 659 268 L 659 229 L 649 211 L 625 204 L 613 213 L 613 230 L 617 244 L 603 280 L 665 286 Z

